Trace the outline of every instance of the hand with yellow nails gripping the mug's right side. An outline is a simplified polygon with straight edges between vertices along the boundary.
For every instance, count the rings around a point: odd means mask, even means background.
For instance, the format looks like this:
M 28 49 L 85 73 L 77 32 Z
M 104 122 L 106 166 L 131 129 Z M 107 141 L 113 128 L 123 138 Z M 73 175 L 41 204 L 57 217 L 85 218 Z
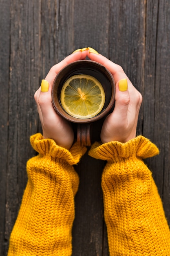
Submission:
M 106 57 L 88 50 L 88 57 L 104 65 L 116 83 L 115 108 L 106 117 L 101 131 L 101 141 L 126 142 L 136 137 L 137 120 L 142 103 L 141 94 L 132 85 L 123 69 Z

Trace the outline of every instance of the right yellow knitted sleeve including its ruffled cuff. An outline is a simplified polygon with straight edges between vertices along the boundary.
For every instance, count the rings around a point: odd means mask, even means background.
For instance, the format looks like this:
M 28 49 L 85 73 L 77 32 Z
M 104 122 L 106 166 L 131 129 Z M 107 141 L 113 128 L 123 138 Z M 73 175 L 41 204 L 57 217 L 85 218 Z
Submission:
M 102 173 L 110 256 L 168 256 L 170 230 L 152 173 L 142 158 L 159 153 L 139 136 L 94 144 L 89 155 L 107 160 Z

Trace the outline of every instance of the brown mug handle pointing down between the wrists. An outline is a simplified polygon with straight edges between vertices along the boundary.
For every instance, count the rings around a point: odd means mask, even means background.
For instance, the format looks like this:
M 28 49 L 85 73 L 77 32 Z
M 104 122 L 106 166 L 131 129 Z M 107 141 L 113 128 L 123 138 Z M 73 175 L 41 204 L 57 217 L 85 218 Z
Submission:
M 77 124 L 77 143 L 79 146 L 91 146 L 92 123 Z

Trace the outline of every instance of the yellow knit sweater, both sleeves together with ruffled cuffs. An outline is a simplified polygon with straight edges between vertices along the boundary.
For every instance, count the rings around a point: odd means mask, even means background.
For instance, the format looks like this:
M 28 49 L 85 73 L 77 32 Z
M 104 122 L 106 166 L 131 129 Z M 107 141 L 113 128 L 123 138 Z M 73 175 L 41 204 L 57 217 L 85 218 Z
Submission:
M 73 164 L 86 148 L 70 152 L 51 139 L 31 137 L 39 155 L 27 163 L 28 183 L 10 237 L 8 256 L 71 255 L 74 196 L 79 178 Z M 152 174 L 142 161 L 158 153 L 139 136 L 125 144 L 94 144 L 89 155 L 108 163 L 102 175 L 110 256 L 170 255 L 170 231 Z

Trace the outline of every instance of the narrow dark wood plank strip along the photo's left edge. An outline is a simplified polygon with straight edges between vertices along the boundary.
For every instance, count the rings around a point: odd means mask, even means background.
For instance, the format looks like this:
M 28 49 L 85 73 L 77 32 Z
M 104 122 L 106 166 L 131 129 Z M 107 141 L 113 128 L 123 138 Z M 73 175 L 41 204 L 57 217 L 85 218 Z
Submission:
M 10 1 L 0 0 L 0 255 L 5 255 L 5 204 L 8 161 Z

